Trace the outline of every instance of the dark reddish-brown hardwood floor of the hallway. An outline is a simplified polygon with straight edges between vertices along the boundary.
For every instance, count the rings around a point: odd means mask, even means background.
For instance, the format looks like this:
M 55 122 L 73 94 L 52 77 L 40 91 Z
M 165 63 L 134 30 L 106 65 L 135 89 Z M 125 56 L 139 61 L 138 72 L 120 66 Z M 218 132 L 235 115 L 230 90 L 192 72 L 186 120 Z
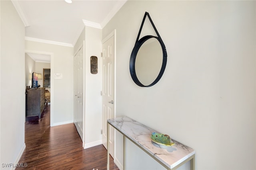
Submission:
M 106 170 L 107 150 L 103 145 L 83 149 L 74 123 L 50 127 L 50 105 L 41 121 L 25 123 L 26 149 L 16 170 Z M 27 165 L 27 167 L 25 167 Z M 119 170 L 110 156 L 110 170 Z

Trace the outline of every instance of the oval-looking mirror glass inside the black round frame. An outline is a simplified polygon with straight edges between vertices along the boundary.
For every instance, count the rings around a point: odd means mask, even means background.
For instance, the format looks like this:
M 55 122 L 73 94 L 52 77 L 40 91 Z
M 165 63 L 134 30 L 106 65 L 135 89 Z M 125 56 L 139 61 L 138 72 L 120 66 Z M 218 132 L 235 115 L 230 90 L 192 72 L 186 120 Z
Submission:
M 145 41 L 135 60 L 135 70 L 138 80 L 148 86 L 156 80 L 163 61 L 163 51 L 159 41 L 152 37 Z

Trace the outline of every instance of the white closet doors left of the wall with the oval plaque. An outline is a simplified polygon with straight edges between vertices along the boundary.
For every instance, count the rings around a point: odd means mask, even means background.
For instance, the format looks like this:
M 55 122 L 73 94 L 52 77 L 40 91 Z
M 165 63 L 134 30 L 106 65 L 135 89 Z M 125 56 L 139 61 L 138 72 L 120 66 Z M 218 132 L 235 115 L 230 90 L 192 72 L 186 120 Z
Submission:
M 84 46 L 74 56 L 74 124 L 83 141 L 84 126 Z

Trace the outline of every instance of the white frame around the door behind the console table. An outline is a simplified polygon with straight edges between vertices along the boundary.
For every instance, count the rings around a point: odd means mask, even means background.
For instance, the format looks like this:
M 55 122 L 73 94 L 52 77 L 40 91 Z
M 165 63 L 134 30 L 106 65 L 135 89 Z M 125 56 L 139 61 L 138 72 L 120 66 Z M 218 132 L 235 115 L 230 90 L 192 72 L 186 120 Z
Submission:
M 104 39 L 102 39 L 102 45 L 108 41 L 112 36 L 114 36 L 114 117 L 116 117 L 116 29 L 109 33 Z M 103 57 L 103 56 L 102 56 Z M 103 64 L 102 64 L 103 67 Z M 102 79 L 103 80 L 103 79 Z M 103 82 L 102 82 L 103 84 Z M 103 109 L 102 109 L 103 115 Z M 103 125 L 103 122 L 102 122 Z M 114 130 L 114 160 L 116 160 L 116 130 Z

